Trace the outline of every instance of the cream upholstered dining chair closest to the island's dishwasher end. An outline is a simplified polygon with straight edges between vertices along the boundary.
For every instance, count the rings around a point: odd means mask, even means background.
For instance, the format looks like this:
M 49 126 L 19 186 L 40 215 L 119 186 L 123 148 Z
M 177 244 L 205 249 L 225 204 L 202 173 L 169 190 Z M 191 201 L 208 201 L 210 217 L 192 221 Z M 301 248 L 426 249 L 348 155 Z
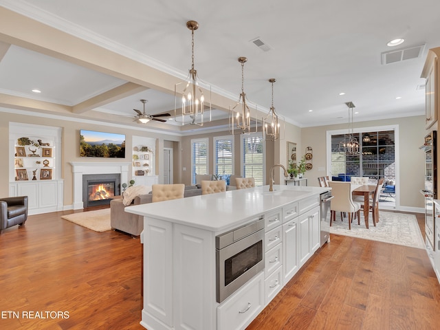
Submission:
M 330 225 L 336 221 L 336 211 L 347 212 L 349 214 L 349 229 L 351 230 L 351 221 L 355 215 L 358 217 L 358 225 L 360 225 L 360 203 L 353 201 L 351 197 L 351 183 L 344 181 L 329 181 L 331 195 L 334 196 L 330 202 Z

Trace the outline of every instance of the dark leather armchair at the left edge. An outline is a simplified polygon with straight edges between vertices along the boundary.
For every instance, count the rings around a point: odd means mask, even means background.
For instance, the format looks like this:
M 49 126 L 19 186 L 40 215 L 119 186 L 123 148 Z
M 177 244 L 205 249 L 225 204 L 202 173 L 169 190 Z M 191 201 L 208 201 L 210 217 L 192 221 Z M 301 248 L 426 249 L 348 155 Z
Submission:
M 0 199 L 0 232 L 13 225 L 24 225 L 28 219 L 28 196 Z

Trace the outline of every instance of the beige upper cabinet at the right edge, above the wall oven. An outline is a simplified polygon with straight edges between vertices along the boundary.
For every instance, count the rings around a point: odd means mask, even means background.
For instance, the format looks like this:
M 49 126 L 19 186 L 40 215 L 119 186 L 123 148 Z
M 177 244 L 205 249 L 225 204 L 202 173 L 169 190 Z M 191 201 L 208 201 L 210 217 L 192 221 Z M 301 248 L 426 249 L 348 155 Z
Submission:
M 437 115 L 439 111 L 438 96 L 439 96 L 439 65 L 437 64 L 440 56 L 440 47 L 429 50 L 426 62 L 421 72 L 421 78 L 425 78 L 425 128 L 430 127 L 437 122 Z

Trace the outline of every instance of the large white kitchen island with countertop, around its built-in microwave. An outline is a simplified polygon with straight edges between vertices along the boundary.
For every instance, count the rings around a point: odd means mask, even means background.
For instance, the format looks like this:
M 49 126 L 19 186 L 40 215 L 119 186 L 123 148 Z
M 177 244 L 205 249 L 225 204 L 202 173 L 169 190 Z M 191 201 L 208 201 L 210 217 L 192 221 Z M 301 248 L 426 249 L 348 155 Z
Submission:
M 141 325 L 244 329 L 320 246 L 320 194 L 329 188 L 268 186 L 126 208 L 144 216 Z M 264 223 L 264 269 L 217 303 L 216 236 Z

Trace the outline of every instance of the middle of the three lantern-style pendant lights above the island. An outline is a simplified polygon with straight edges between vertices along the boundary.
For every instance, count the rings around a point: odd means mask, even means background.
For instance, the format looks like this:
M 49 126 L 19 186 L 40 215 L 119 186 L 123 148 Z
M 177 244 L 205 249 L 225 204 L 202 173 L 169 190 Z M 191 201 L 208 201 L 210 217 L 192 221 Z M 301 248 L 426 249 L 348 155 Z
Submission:
M 256 104 L 249 102 L 244 91 L 244 65 L 248 58 L 239 57 L 238 61 L 241 63 L 241 94 L 236 104 L 229 107 L 229 131 L 231 134 L 256 133 L 258 123 L 248 107 L 251 104 L 256 111 Z

